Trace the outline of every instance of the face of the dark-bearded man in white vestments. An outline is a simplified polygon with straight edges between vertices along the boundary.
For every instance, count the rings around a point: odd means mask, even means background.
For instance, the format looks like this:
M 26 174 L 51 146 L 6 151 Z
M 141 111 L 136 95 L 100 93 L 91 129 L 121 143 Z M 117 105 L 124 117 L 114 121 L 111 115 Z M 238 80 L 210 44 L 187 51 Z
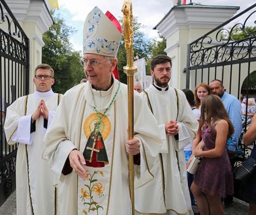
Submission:
M 151 70 L 151 74 L 154 78 L 154 83 L 159 87 L 167 87 L 170 81 L 170 75 L 172 74 L 172 67 L 170 62 L 160 63 Z

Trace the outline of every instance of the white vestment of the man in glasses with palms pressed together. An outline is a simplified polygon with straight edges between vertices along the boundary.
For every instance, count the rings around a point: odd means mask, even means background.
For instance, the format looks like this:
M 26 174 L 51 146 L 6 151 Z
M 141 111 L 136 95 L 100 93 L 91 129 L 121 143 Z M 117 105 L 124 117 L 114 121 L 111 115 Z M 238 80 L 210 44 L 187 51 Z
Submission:
M 26 96 L 22 96 L 7 107 L 5 119 L 8 144 L 20 143 L 16 156 L 17 214 L 32 214 L 33 210 L 35 215 L 54 215 L 54 174 L 48 162 L 42 159 L 42 139 L 46 132 L 42 116 L 35 122 L 35 132 L 30 132 L 31 115 L 39 106 L 40 100 L 44 100 L 49 111 L 48 128 L 57 108 L 59 94 L 52 90 L 45 93 L 35 91 L 27 96 L 27 105 L 25 98 Z

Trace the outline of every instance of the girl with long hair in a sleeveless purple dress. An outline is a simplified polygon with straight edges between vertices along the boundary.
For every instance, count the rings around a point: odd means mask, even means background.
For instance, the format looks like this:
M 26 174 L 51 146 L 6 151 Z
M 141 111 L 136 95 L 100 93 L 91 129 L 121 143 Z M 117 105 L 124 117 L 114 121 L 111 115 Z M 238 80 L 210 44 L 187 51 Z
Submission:
M 233 132 L 219 96 L 206 96 L 202 100 L 199 130 L 193 141 L 193 154 L 202 157 L 202 162 L 191 185 L 201 215 L 224 214 L 221 197 L 233 194 L 231 163 L 226 151 L 227 139 Z M 199 149 L 201 139 L 203 144 Z

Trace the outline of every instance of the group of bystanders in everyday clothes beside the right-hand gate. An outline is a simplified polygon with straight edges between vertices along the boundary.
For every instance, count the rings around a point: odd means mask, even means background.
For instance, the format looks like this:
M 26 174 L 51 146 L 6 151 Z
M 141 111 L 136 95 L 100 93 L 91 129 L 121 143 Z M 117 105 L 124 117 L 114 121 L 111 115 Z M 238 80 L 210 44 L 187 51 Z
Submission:
M 197 203 L 200 214 L 223 214 L 224 208 L 232 205 L 232 169 L 242 133 L 242 115 L 245 113 L 238 99 L 225 92 L 219 79 L 210 81 L 209 85 L 199 83 L 194 94 L 189 89 L 183 91 L 191 108 L 197 109 L 194 114 L 199 119 L 192 151 L 184 149 L 187 167 L 193 155 L 202 158 L 197 173 L 194 176 L 187 173 L 191 204 Z M 199 143 L 203 143 L 200 150 Z M 250 193 L 249 196 L 255 195 L 255 192 Z M 245 194 L 243 198 L 253 203 L 254 200 L 245 197 Z M 253 211 L 255 214 L 255 210 L 251 210 L 251 214 Z

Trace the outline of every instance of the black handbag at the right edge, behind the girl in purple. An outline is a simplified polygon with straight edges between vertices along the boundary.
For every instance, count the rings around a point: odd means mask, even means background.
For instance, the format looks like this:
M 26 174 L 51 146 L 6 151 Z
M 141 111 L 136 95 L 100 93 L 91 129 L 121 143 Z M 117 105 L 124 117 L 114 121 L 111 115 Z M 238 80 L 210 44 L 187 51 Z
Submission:
M 254 171 L 256 171 L 256 162 L 249 156 L 247 160 L 234 167 L 234 179 L 239 180 L 240 182 L 246 182 Z

